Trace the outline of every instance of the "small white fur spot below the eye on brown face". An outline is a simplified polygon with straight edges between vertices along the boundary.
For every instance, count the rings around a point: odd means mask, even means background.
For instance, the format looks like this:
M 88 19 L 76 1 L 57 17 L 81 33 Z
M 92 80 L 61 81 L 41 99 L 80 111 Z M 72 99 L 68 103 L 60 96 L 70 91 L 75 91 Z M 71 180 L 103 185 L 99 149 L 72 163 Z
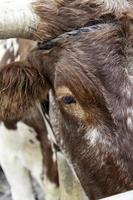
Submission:
M 87 131 L 85 134 L 85 140 L 89 140 L 90 144 L 93 146 L 95 146 L 96 143 L 100 140 L 100 137 L 100 133 L 96 128 Z

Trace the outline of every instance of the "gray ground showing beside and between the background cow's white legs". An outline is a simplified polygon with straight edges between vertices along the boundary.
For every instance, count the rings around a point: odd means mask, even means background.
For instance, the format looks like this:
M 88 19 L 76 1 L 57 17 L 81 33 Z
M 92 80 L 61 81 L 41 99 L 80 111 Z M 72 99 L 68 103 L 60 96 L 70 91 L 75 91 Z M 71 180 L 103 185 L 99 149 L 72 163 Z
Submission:
M 36 200 L 44 200 L 40 188 L 34 181 L 33 181 L 33 188 L 35 191 Z M 9 184 L 7 183 L 6 178 L 1 169 L 0 169 L 0 200 L 12 200 Z

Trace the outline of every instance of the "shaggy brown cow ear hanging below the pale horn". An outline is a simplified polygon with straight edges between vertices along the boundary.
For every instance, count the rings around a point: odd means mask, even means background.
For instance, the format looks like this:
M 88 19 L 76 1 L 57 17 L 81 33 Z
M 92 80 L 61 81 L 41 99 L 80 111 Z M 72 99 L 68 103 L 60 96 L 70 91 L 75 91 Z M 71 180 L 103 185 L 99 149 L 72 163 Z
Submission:
M 28 62 L 15 62 L 0 69 L 0 120 L 20 119 L 45 98 L 49 86 L 39 70 Z

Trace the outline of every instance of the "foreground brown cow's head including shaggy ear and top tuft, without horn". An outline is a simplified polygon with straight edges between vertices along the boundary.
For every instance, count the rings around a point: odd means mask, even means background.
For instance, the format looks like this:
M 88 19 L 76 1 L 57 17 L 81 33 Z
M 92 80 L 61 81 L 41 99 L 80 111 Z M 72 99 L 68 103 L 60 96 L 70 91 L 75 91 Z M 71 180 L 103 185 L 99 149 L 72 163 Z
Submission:
M 41 24 L 27 31 L 33 39 L 89 27 L 1 69 L 1 119 L 21 119 L 50 88 L 57 143 L 90 199 L 133 189 L 133 1 L 57 0 L 34 8 Z

